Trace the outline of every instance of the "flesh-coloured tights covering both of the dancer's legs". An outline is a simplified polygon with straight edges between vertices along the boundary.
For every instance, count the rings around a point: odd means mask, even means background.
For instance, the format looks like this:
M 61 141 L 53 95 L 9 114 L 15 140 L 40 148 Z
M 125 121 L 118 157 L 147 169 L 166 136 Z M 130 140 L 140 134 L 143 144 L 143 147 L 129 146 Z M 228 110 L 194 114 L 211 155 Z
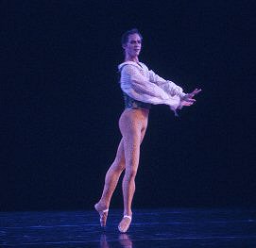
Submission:
M 131 203 L 135 191 L 135 176 L 139 166 L 140 145 L 145 136 L 148 112 L 148 109 L 127 108 L 119 119 L 122 140 L 119 143 L 116 157 L 105 177 L 104 190 L 98 202 L 98 206 L 102 209 L 109 208 L 112 193 L 120 175 L 125 170 L 122 183 L 124 215 L 132 215 Z

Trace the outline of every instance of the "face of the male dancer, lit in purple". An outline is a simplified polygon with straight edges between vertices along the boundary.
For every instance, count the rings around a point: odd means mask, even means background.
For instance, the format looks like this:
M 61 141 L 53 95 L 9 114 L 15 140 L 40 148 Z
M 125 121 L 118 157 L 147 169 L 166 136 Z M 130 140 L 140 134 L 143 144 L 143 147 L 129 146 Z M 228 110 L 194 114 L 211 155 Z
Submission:
M 123 48 L 129 57 L 138 57 L 142 49 L 141 37 L 138 34 L 129 35 L 128 42 L 123 46 Z

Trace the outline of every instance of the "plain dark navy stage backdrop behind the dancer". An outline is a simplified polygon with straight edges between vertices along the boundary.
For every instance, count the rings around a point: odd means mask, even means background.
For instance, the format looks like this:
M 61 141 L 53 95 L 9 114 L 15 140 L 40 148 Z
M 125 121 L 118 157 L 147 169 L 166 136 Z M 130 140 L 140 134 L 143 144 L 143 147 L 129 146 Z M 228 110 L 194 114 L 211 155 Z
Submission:
M 253 1 L 1 1 L 1 210 L 92 208 L 121 135 L 120 37 L 184 91 L 155 106 L 134 207 L 256 205 Z M 111 207 L 122 207 L 121 185 Z

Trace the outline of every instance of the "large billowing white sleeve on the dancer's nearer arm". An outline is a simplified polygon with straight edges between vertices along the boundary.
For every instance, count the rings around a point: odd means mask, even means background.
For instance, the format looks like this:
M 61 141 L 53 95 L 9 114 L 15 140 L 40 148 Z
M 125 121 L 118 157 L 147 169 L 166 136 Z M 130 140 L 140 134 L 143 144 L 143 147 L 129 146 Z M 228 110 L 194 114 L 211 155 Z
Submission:
M 125 65 L 121 71 L 121 89 L 135 100 L 158 105 L 165 104 L 172 109 L 180 105 L 180 96 L 173 91 L 164 91 L 158 84 L 150 82 L 139 69 Z

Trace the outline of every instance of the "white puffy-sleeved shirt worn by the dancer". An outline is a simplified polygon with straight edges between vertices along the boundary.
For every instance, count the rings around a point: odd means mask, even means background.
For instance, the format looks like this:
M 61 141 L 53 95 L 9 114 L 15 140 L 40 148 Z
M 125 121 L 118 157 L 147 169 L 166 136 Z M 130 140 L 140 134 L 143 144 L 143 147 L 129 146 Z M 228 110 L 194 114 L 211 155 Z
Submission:
M 121 89 L 129 97 L 148 104 L 164 104 L 176 110 L 185 95 L 175 83 L 163 79 L 142 62 L 127 61 L 118 66 Z

